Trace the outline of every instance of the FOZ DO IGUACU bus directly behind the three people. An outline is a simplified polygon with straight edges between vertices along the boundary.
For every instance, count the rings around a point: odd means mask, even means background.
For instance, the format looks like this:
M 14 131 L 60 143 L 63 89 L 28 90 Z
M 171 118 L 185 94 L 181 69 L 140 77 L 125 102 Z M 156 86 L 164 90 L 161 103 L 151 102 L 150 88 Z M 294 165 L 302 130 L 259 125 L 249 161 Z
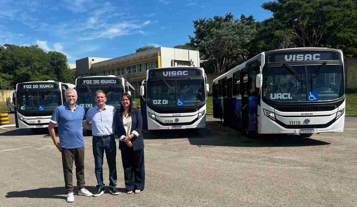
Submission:
M 121 107 L 121 94 L 124 92 L 129 93 L 135 101 L 135 88 L 124 78 L 115 75 L 77 78 L 76 90 L 77 104 L 84 107 L 86 112 L 90 107 L 97 105 L 94 99 L 97 90 L 104 91 L 108 99 L 106 104 L 116 109 Z

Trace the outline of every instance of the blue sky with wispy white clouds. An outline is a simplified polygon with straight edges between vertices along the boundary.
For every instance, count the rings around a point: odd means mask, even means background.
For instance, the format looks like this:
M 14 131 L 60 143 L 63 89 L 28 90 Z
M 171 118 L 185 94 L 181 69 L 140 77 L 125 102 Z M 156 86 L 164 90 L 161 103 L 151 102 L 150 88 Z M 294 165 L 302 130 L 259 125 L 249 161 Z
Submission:
M 0 0 L 0 44 L 38 44 L 67 55 L 68 63 L 84 57 L 115 58 L 145 45 L 174 47 L 193 36 L 192 21 L 232 12 L 272 16 L 263 0 L 100 1 Z

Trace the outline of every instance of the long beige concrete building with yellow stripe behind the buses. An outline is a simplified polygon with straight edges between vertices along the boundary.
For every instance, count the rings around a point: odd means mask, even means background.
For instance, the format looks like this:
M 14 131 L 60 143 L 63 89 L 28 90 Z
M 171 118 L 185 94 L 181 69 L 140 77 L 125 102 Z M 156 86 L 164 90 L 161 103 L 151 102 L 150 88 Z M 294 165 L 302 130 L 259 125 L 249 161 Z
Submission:
M 135 87 L 146 78 L 146 70 L 171 66 L 200 67 L 200 53 L 187 49 L 157 47 L 118 58 L 86 57 L 76 60 L 76 76 L 116 75 L 123 76 Z M 73 70 L 74 72 L 74 70 Z

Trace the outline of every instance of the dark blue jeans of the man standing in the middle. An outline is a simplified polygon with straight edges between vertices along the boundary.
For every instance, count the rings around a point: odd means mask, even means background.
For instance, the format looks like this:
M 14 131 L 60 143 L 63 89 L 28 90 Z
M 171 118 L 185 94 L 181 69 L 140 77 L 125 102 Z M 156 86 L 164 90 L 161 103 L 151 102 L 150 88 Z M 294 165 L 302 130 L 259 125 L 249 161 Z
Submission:
M 109 167 L 109 187 L 116 187 L 116 142 L 114 135 L 97 137 L 93 136 L 93 155 L 95 164 L 95 176 L 97 178 L 97 188 L 104 188 L 103 182 L 103 156 L 107 158 Z

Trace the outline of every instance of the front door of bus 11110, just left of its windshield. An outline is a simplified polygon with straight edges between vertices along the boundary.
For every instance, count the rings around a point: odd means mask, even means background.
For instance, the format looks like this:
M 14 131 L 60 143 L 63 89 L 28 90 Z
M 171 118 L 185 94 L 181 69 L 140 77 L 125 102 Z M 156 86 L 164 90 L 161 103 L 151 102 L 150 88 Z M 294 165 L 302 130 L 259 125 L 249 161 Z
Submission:
M 248 70 L 248 132 L 256 132 L 258 130 L 258 102 L 259 88 L 256 87 L 256 76 L 260 73 L 260 60 L 254 60 L 247 63 Z

